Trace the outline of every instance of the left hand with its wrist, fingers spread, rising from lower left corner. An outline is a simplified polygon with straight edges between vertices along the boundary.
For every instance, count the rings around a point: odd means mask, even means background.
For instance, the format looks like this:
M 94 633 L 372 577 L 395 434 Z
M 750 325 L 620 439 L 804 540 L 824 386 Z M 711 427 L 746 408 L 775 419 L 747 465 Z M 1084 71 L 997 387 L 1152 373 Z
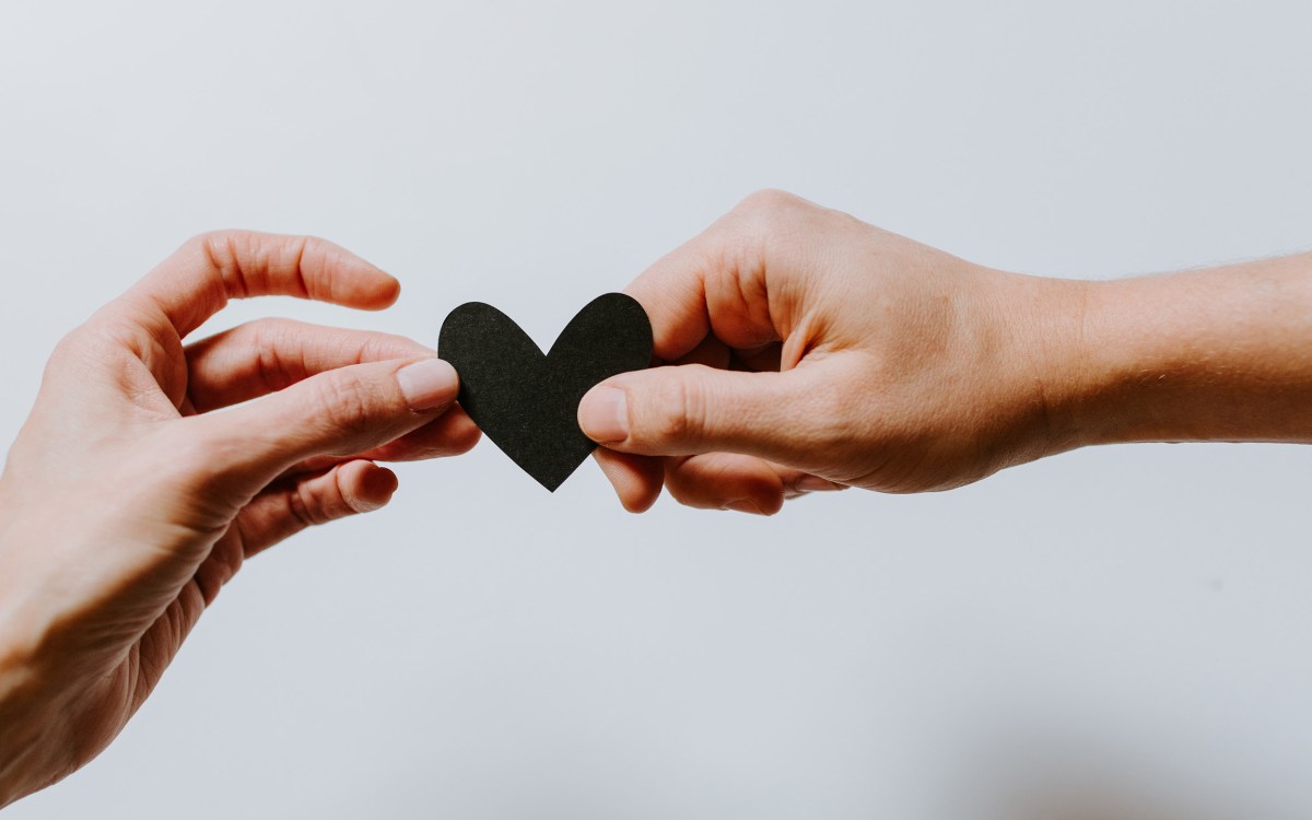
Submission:
M 51 357 L 0 478 L 0 806 L 118 735 L 247 558 L 387 504 L 374 459 L 478 441 L 407 338 L 261 320 L 184 342 L 266 294 L 379 310 L 399 285 L 321 240 L 211 234 Z

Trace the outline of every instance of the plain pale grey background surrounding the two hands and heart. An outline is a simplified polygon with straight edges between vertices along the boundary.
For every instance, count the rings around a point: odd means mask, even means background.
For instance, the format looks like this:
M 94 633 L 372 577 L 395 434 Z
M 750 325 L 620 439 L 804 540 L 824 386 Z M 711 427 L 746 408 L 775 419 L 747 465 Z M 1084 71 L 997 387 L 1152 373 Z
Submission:
M 189 235 L 312 232 L 550 344 L 762 186 L 1013 270 L 1312 236 L 1312 13 L 1178 3 L 0 5 L 0 430 Z M 484 442 L 252 562 L 7 817 L 1312 812 L 1312 451 L 1081 451 L 773 520 Z M 1052 796 L 1056 795 L 1056 796 Z M 1072 796 L 1076 795 L 1076 796 Z

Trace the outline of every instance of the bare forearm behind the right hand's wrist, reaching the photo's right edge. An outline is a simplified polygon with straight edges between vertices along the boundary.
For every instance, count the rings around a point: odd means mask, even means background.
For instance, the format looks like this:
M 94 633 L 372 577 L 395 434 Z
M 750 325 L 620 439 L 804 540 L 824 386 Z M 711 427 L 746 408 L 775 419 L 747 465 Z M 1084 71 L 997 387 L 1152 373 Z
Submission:
M 1068 315 L 1072 446 L 1312 442 L 1312 255 L 1084 282 Z

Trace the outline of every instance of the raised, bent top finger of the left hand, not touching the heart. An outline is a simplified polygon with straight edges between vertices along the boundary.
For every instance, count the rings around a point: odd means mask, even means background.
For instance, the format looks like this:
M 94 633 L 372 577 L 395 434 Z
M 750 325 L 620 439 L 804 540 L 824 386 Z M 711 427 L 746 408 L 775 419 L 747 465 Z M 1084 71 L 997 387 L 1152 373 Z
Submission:
M 382 310 L 399 294 L 394 277 L 331 241 L 218 231 L 189 240 L 125 297 L 185 337 L 228 299 L 278 295 Z

